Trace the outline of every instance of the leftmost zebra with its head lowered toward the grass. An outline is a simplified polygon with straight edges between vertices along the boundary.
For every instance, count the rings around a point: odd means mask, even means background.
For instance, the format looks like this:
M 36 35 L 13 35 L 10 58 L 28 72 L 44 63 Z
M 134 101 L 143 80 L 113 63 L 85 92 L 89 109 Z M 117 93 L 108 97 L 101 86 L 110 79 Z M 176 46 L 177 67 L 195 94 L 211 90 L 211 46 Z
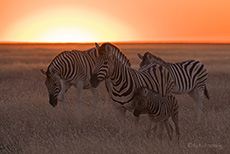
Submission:
M 45 84 L 49 92 L 49 102 L 53 107 L 57 105 L 58 101 L 65 106 L 64 94 L 73 85 L 77 88 L 79 108 L 81 108 L 83 89 L 91 89 L 94 96 L 94 109 L 96 108 L 98 91 L 90 84 L 96 58 L 95 48 L 85 51 L 63 51 L 51 61 L 46 71 L 40 70 L 46 76 Z

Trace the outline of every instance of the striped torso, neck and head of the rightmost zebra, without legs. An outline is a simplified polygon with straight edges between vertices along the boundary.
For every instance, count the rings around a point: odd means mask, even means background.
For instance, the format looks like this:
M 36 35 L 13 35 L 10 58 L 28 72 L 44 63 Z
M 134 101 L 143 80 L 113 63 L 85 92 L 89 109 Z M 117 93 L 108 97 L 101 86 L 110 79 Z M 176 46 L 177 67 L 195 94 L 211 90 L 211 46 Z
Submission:
M 148 64 L 159 64 L 168 69 L 174 82 L 174 93 L 190 92 L 194 88 L 205 89 L 205 81 L 207 80 L 207 69 L 197 60 L 188 60 L 178 63 L 169 63 L 162 60 L 149 52 L 143 56 L 140 67 Z M 207 90 L 206 90 L 207 91 Z M 208 98 L 208 94 L 205 94 Z

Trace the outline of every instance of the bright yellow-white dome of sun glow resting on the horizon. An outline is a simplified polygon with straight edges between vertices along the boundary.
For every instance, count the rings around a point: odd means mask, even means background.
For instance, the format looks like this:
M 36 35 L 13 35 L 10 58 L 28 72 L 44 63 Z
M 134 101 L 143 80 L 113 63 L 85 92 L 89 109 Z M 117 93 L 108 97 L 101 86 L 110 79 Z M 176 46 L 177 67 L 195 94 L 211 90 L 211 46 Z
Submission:
M 28 15 L 9 26 L 7 36 L 22 42 L 103 42 L 136 38 L 131 26 L 118 19 L 76 8 L 55 8 Z

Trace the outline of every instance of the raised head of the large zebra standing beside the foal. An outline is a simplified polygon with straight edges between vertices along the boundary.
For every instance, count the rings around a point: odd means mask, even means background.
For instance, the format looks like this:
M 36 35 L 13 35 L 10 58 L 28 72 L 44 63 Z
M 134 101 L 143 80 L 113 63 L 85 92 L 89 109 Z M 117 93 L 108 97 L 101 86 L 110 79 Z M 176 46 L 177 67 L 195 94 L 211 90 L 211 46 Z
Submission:
M 113 57 L 108 52 L 108 47 L 103 44 L 101 47 L 96 44 L 96 49 L 99 56 L 96 59 L 93 74 L 91 75 L 90 83 L 96 88 L 100 82 L 107 79 L 110 75 L 110 70 L 113 69 Z

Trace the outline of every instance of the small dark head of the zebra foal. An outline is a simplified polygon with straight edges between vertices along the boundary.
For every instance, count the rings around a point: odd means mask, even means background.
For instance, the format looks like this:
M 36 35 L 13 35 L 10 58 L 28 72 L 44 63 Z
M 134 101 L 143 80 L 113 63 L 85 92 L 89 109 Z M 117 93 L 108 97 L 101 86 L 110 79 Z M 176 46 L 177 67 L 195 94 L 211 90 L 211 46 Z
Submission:
M 139 116 L 140 114 L 147 113 L 148 112 L 148 104 L 146 97 L 148 96 L 148 89 L 141 87 L 136 89 L 133 99 L 134 104 L 134 116 Z

